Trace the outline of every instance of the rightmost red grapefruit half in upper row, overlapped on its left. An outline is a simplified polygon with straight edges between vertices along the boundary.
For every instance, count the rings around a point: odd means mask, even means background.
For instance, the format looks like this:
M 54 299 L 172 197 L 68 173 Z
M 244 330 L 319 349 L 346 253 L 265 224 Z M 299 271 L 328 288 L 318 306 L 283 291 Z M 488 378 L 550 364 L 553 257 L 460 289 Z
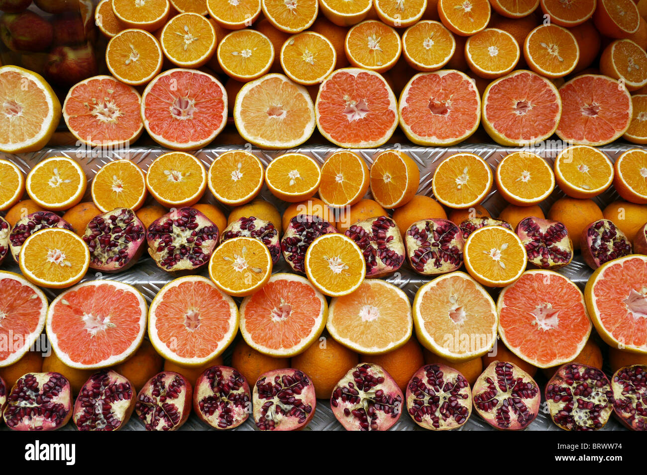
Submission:
M 615 79 L 584 74 L 560 87 L 564 111 L 557 134 L 575 145 L 606 145 L 627 131 L 631 96 Z

